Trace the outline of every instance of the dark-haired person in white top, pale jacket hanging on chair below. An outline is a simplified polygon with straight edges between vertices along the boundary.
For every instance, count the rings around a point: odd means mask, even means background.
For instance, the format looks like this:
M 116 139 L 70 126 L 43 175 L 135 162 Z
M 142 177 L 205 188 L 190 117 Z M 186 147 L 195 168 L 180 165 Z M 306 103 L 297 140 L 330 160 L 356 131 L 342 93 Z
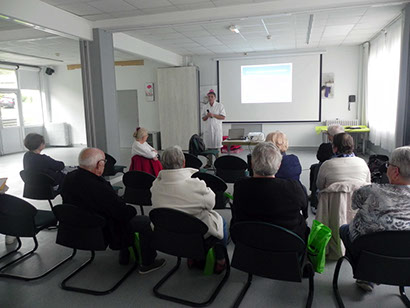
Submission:
M 349 134 L 341 133 L 333 137 L 335 156 L 320 166 L 316 182 L 319 190 L 336 182 L 360 181 L 370 184 L 369 167 L 363 159 L 354 155 L 353 150 L 354 141 Z

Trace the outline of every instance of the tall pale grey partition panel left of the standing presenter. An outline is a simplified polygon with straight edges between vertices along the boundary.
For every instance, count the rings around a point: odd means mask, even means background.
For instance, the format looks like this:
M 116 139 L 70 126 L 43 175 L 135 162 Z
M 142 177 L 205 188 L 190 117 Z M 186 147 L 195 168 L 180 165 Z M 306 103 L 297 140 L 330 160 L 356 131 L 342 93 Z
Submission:
M 159 68 L 158 102 L 162 149 L 179 145 L 199 132 L 199 88 L 196 67 Z

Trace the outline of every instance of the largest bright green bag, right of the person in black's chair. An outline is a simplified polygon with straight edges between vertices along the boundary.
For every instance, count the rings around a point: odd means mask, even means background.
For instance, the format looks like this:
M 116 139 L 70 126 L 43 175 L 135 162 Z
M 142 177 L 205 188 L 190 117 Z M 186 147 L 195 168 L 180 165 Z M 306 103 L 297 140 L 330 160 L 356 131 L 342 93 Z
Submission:
M 323 273 L 326 264 L 326 246 L 332 237 L 332 230 L 328 226 L 313 220 L 310 230 L 307 253 L 313 268 L 317 273 Z

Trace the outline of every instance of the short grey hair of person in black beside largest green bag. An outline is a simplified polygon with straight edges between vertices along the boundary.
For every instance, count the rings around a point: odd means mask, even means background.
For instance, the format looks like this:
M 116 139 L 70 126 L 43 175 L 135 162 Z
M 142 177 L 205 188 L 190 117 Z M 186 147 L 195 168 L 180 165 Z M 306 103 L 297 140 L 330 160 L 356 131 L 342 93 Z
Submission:
M 261 142 L 253 149 L 252 168 L 257 175 L 275 175 L 281 162 L 282 154 L 271 142 Z

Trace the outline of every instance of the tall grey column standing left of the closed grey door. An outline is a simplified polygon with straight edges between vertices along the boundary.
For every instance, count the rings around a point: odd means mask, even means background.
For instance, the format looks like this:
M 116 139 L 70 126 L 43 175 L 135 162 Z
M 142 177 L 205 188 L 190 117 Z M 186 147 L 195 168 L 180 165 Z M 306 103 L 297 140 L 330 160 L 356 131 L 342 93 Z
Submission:
M 93 41 L 80 41 L 87 145 L 100 148 L 119 160 L 120 134 L 112 34 L 94 29 L 93 38 Z

